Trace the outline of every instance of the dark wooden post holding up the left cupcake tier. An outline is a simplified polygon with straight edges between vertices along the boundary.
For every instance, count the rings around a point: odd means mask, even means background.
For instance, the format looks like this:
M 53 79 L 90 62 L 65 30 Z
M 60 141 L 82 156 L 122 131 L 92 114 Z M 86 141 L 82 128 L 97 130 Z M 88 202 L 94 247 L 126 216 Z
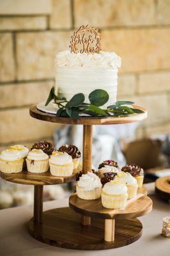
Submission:
M 42 223 L 43 214 L 43 186 L 34 186 L 34 222 Z

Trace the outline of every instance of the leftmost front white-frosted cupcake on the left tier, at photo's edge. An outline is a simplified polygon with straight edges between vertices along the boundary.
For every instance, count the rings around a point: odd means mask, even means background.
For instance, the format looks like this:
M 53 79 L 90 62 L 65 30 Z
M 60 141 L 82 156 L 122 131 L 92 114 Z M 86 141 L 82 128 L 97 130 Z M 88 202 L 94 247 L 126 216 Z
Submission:
M 0 154 L 0 170 L 5 173 L 22 172 L 24 159 L 20 151 L 13 148 L 3 150 Z

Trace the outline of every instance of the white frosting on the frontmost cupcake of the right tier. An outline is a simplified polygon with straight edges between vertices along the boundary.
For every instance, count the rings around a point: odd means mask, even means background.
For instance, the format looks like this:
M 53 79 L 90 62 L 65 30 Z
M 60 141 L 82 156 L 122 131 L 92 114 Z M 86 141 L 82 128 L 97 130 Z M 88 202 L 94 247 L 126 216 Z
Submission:
M 102 191 L 108 195 L 124 195 L 127 193 L 127 186 L 118 180 L 111 180 L 104 185 Z

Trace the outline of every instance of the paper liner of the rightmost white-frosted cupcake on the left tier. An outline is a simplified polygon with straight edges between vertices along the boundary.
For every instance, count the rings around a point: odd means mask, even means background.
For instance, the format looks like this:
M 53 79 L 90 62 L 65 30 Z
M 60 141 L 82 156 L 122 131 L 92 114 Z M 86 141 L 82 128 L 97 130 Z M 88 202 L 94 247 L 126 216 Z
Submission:
M 54 176 L 70 176 L 73 173 L 73 162 L 70 164 L 58 165 L 50 163 L 50 172 Z

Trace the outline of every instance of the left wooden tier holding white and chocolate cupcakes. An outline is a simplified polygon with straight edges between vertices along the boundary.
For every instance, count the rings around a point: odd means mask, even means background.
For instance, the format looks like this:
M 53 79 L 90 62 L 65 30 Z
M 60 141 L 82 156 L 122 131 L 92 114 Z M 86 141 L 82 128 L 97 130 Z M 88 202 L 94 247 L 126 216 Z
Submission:
M 67 177 L 56 177 L 50 171 L 44 173 L 31 173 L 24 170 L 19 173 L 0 172 L 1 178 L 10 182 L 25 185 L 54 185 L 68 183 L 76 179 L 76 174 Z

